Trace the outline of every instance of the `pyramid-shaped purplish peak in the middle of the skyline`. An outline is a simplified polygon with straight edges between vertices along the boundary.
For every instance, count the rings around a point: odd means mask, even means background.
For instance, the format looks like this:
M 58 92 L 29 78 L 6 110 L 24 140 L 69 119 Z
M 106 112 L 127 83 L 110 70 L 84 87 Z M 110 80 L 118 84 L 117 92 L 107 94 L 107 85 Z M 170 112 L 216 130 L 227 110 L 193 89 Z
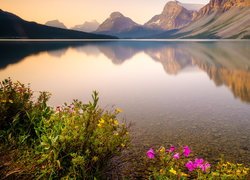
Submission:
M 117 34 L 140 26 L 120 12 L 113 12 L 96 30 L 98 33 Z

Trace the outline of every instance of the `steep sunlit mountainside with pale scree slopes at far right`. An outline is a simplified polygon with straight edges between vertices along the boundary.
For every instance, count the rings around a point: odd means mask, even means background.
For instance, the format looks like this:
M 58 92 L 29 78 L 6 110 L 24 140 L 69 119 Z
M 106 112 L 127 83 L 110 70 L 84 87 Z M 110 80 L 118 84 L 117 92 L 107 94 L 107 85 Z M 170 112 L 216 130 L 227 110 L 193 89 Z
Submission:
M 174 34 L 153 38 L 250 38 L 249 0 L 211 0 L 193 22 Z

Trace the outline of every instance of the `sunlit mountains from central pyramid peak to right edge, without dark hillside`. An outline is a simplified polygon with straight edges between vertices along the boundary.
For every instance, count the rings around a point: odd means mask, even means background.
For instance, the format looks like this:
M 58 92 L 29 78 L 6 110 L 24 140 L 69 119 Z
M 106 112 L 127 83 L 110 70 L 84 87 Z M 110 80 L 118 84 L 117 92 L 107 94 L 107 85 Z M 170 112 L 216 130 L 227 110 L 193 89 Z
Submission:
M 199 11 L 197 11 L 199 10 Z M 210 0 L 201 7 L 169 1 L 144 25 L 112 13 L 96 33 L 119 38 L 250 38 L 249 0 Z

